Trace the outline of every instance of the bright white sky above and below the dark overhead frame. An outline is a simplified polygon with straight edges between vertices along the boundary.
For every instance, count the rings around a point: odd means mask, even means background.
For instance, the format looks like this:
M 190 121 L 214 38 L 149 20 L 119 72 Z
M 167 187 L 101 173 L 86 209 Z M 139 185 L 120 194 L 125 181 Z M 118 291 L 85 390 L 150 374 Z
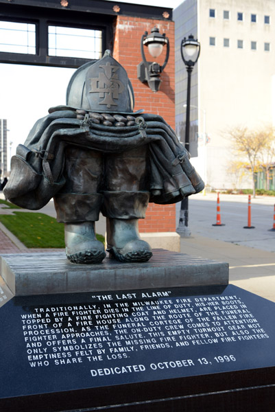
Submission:
M 147 0 L 120 1 L 148 4 Z M 176 8 L 180 3 L 182 0 L 150 0 L 150 5 L 158 7 Z M 47 115 L 49 107 L 65 104 L 67 85 L 74 71 L 58 67 L 0 65 L 0 118 L 8 122 L 8 162 L 10 155 L 15 154 L 16 146 L 24 144 L 36 120 Z

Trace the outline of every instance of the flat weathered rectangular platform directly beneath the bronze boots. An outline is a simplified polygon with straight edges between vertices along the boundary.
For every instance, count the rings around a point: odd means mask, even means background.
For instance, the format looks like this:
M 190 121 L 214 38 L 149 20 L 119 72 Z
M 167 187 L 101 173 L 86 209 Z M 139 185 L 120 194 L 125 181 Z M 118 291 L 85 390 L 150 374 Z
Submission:
M 73 264 L 65 253 L 1 255 L 1 276 L 12 293 L 43 295 L 228 284 L 228 263 L 154 249 L 145 263 Z

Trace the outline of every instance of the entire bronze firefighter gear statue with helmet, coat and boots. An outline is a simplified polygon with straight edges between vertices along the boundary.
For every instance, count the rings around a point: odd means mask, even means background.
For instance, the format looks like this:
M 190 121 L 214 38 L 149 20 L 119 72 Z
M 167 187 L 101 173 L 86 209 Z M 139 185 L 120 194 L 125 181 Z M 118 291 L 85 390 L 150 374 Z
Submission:
M 133 109 L 128 75 L 106 51 L 75 71 L 67 106 L 50 108 L 12 157 L 5 196 L 27 209 L 53 197 L 71 262 L 106 256 L 95 237 L 99 211 L 107 219 L 111 258 L 149 260 L 152 249 L 138 231 L 148 202 L 176 203 L 204 187 L 165 120 Z

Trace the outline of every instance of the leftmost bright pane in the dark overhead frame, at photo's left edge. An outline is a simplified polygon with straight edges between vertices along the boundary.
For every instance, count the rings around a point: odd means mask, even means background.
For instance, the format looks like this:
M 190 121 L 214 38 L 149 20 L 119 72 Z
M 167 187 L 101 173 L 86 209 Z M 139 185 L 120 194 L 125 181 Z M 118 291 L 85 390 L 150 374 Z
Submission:
M 0 52 L 36 54 L 36 25 L 0 21 Z

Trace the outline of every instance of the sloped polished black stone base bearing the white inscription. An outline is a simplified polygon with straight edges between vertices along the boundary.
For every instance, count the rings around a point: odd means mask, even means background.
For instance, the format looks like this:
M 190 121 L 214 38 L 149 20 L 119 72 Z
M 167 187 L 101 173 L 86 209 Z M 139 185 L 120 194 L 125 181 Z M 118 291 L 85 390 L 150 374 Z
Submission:
M 274 411 L 274 312 L 232 285 L 14 297 L 0 410 Z

